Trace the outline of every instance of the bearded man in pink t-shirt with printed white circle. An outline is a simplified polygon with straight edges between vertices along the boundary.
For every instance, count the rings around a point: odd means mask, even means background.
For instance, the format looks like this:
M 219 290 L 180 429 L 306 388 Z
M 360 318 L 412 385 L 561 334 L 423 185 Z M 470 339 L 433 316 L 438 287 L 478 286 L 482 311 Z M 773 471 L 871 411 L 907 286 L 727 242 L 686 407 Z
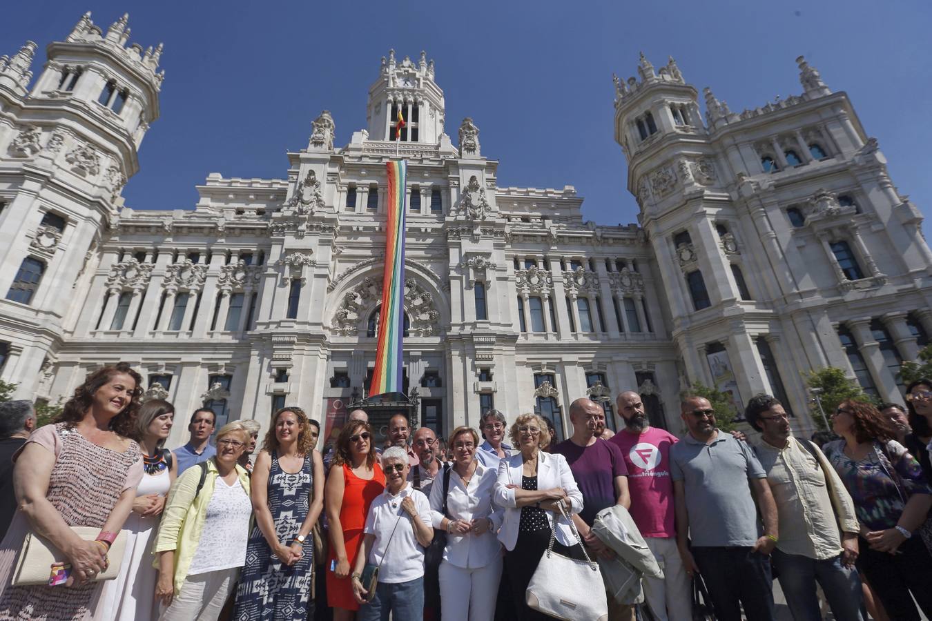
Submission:
M 609 441 L 622 450 L 628 468 L 631 517 L 664 570 L 663 578 L 644 577 L 644 597 L 657 621 L 690 619 L 692 591 L 679 558 L 670 479 L 670 447 L 678 439 L 651 427 L 637 392 L 623 392 L 616 403 L 624 429 Z

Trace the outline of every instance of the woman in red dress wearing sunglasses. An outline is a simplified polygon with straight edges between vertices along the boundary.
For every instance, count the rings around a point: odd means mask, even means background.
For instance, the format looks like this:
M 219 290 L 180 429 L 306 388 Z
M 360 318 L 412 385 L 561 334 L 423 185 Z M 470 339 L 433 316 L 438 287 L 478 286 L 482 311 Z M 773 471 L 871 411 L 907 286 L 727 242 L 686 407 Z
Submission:
M 330 523 L 327 557 L 327 603 L 334 621 L 350 621 L 359 610 L 349 580 L 363 542 L 363 526 L 385 475 L 376 459 L 376 443 L 368 423 L 350 420 L 336 439 L 333 464 L 324 486 L 324 507 Z

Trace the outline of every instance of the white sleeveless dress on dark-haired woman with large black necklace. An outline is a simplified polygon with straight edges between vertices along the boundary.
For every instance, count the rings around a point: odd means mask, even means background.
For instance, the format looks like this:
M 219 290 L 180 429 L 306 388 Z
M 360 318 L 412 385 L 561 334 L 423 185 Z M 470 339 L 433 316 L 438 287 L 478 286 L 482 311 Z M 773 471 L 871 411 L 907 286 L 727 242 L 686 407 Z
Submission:
M 167 465 L 166 465 L 167 466 Z M 155 475 L 144 474 L 136 488 L 136 496 L 158 493 L 164 496 L 171 488 L 170 468 Z M 103 587 L 103 613 L 108 621 L 152 621 L 158 619 L 156 592 L 158 572 L 152 561 L 152 537 L 158 531 L 161 516 L 144 517 L 130 512 L 123 529 L 128 531 L 123 563 L 115 580 Z

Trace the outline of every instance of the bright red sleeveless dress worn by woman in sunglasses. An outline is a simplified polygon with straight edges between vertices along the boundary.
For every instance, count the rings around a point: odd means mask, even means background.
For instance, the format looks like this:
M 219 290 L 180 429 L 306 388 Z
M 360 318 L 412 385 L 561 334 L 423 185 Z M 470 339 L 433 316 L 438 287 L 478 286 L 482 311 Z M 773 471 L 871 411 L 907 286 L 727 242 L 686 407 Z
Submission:
M 369 514 L 378 494 L 385 491 L 385 475 L 378 462 L 373 466 L 372 479 L 360 479 L 352 473 L 352 468 L 343 464 L 343 480 L 346 481 L 343 489 L 343 504 L 340 506 L 340 525 L 343 527 L 343 541 L 349 559 L 349 569 L 355 566 L 356 552 L 363 543 L 363 527 L 365 517 Z M 331 567 L 335 565 L 336 550 L 330 546 L 327 556 L 327 603 L 332 608 L 345 610 L 359 610 L 359 604 L 352 596 L 352 584 L 349 576 L 337 578 Z

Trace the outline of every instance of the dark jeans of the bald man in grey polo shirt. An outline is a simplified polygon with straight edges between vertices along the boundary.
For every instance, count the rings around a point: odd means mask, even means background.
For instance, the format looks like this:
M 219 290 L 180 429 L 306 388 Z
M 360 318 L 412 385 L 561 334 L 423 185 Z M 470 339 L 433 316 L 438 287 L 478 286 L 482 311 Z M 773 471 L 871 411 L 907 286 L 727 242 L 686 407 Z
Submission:
M 706 581 L 719 621 L 774 621 L 774 581 L 770 559 L 749 546 L 693 547 L 692 558 Z

